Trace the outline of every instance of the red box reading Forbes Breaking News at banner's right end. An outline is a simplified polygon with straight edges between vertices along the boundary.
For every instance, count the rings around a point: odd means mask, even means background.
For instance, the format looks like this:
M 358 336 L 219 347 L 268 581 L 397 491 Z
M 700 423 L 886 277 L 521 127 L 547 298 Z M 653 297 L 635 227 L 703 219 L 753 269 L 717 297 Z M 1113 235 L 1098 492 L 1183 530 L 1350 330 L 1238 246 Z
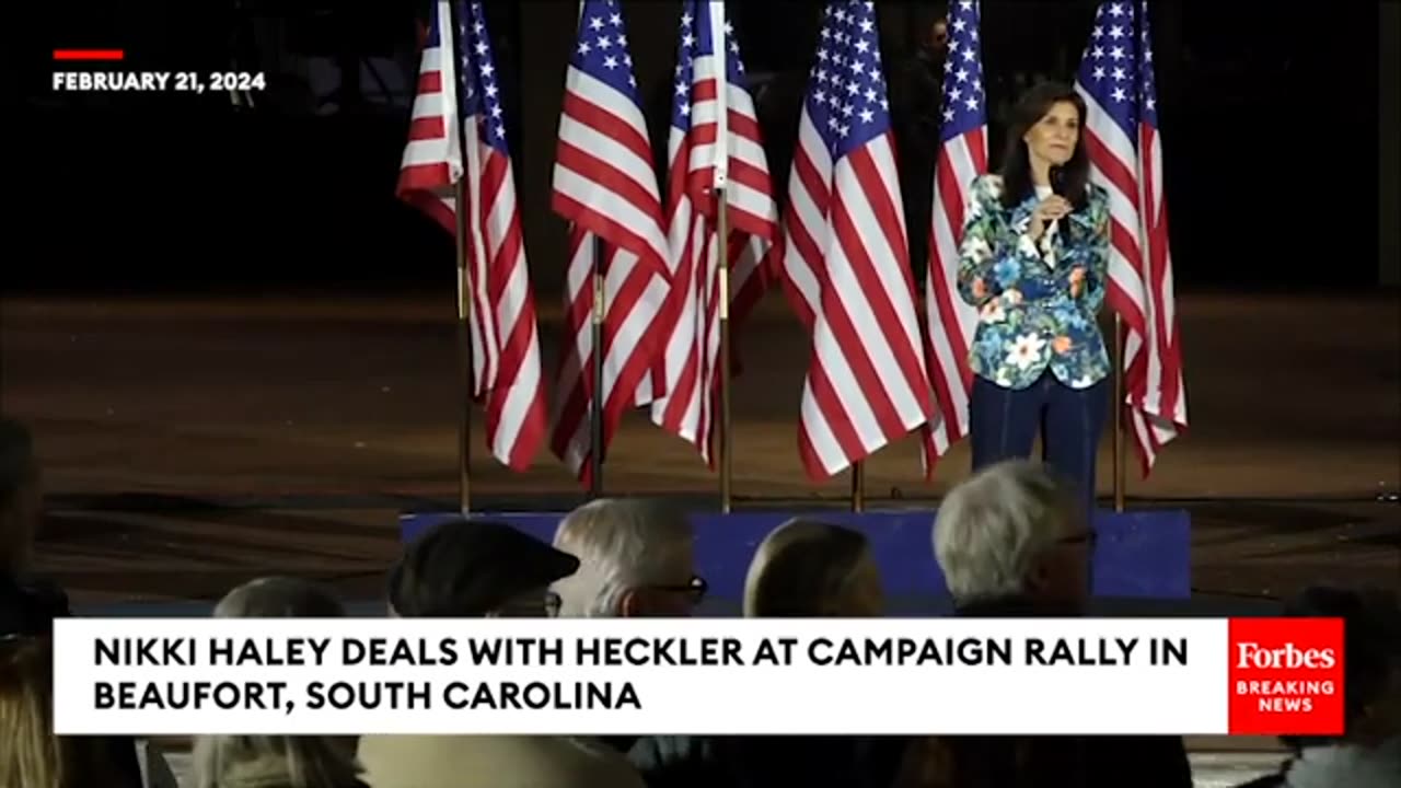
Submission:
M 1342 618 L 1230 620 L 1230 733 L 1341 736 Z

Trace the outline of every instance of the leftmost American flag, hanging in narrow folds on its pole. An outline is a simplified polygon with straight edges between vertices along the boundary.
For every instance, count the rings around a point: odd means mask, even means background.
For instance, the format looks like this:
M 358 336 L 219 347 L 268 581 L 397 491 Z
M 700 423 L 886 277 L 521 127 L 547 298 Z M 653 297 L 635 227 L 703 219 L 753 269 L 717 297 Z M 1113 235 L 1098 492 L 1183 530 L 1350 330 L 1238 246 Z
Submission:
M 425 38 L 396 193 L 457 233 L 465 181 L 474 395 L 492 456 L 524 471 L 545 439 L 535 296 L 506 147 L 500 87 L 481 3 L 439 1 Z M 460 42 L 454 46 L 454 32 Z

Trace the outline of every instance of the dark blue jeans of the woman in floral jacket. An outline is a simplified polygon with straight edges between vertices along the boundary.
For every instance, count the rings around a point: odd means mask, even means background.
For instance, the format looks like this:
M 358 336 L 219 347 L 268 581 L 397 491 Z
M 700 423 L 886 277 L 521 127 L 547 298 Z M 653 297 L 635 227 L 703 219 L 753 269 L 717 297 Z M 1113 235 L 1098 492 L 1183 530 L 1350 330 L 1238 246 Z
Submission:
M 1041 430 L 1041 458 L 1080 492 L 1094 512 L 1094 460 L 1110 408 L 1110 380 L 1070 388 L 1047 370 L 1023 390 L 974 377 L 968 402 L 972 470 L 1031 454 Z

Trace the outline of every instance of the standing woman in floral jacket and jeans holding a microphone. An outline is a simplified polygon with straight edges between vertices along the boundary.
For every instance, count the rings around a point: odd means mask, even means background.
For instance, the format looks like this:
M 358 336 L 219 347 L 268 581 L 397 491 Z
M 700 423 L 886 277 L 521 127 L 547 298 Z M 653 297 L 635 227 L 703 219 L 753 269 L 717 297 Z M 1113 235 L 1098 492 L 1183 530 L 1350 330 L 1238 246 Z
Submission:
M 1002 172 L 979 175 L 958 292 L 978 308 L 969 353 L 972 467 L 1031 453 L 1094 508 L 1110 358 L 1096 315 L 1108 265 L 1108 198 L 1089 182 L 1084 101 L 1038 84 L 1012 111 Z

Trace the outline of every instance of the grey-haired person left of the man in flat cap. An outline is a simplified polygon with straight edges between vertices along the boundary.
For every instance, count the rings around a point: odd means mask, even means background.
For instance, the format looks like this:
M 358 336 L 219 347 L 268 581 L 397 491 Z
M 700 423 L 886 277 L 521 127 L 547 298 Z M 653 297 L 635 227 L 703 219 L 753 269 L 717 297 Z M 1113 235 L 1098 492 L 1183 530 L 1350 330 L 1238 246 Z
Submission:
M 296 578 L 259 578 L 228 592 L 216 618 L 336 618 L 340 602 Z M 199 736 L 198 788 L 364 788 L 354 738 Z

